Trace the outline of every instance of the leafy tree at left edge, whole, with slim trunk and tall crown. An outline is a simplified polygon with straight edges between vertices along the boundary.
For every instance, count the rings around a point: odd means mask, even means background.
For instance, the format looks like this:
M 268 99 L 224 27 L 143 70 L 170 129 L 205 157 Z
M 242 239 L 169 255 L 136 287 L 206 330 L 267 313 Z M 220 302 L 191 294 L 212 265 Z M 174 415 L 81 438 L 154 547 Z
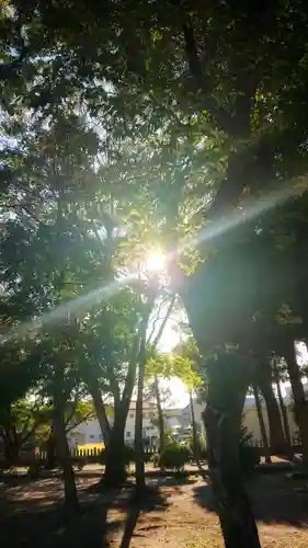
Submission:
M 72 129 L 73 142 L 67 139 Z M 78 509 L 78 498 L 65 408 L 78 377 L 76 335 L 80 322 L 71 308 L 61 305 L 76 295 L 77 286 L 82 286 L 87 278 L 89 283 L 89 277 L 95 275 L 93 260 L 87 264 L 87 258 L 91 254 L 98 258 L 99 250 L 87 218 L 82 217 L 82 183 L 88 183 L 89 198 L 90 184 L 95 181 L 91 155 L 96 153 L 98 140 L 93 132 L 82 128 L 80 118 L 68 105 L 59 109 L 47 126 L 30 115 L 21 118 L 12 132 L 18 145 L 12 149 L 8 144 L 1 167 L 2 183 L 8 186 L 2 212 L 4 218 L 11 214 L 1 242 L 3 298 L 22 304 L 15 317 L 11 316 L 11 324 L 16 329 L 16 338 L 26 335 L 28 344 L 36 349 L 31 357 L 37 361 L 39 377 L 45 378 L 53 400 L 53 436 L 64 470 L 64 510 L 70 514 Z M 16 241 L 19 252 L 13 260 L 11 248 L 15 249 Z M 59 253 L 61 250 L 66 252 Z M 59 307 L 55 317 L 48 313 L 54 306 Z M 42 313 L 36 322 L 23 321 Z M 59 327 L 53 326 L 48 333 L 44 323 L 53 324 L 55 320 Z M 7 336 L 10 340 L 11 333 Z

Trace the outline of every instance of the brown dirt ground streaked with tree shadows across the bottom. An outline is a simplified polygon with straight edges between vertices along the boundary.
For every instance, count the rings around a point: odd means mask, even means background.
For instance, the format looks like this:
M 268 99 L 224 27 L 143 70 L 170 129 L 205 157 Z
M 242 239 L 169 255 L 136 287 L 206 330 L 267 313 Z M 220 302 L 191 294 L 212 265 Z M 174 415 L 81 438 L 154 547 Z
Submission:
M 1 480 L 0 480 L 1 482 Z M 61 480 L 16 480 L 0 486 L 1 546 L 7 548 L 224 547 L 210 490 L 201 477 L 152 478 L 150 495 L 132 490 L 98 493 L 98 476 L 77 477 L 83 511 L 69 526 L 59 521 Z M 255 476 L 248 484 L 262 547 L 308 547 L 308 482 L 284 475 Z

